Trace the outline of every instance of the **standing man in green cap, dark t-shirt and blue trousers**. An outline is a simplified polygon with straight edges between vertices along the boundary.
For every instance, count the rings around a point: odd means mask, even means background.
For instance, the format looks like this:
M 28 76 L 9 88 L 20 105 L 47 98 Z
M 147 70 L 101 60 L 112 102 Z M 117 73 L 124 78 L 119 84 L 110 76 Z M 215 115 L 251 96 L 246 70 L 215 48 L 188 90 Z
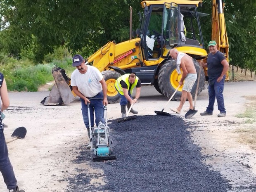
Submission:
M 206 108 L 206 111 L 200 113 L 200 115 L 212 115 L 213 114 L 213 105 L 215 102 L 215 98 L 218 103 L 218 110 L 220 114 L 218 117 L 226 116 L 226 109 L 224 105 L 224 82 L 225 82 L 225 74 L 229 69 L 228 61 L 222 52 L 218 51 L 216 41 L 212 40 L 208 44 L 209 47 L 209 55 L 207 58 L 207 63 L 200 62 L 200 64 L 204 67 L 208 67 L 208 76 L 209 76 L 209 86 L 208 86 L 208 94 L 209 94 L 209 105 Z

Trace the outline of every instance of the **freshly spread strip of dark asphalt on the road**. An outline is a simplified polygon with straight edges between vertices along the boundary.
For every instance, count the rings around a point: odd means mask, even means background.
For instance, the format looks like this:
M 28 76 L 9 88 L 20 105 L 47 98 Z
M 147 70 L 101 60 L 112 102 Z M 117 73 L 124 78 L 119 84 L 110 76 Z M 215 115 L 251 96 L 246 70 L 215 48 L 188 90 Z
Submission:
M 177 116 L 137 116 L 109 123 L 116 160 L 92 162 L 86 149 L 77 161 L 90 161 L 104 170 L 106 185 L 89 183 L 97 174 L 81 173 L 70 178 L 73 192 L 226 192 L 228 181 L 201 161 L 200 148 L 190 140 L 183 119 Z M 78 170 L 79 171 L 79 170 Z M 78 181 L 78 182 L 75 182 Z

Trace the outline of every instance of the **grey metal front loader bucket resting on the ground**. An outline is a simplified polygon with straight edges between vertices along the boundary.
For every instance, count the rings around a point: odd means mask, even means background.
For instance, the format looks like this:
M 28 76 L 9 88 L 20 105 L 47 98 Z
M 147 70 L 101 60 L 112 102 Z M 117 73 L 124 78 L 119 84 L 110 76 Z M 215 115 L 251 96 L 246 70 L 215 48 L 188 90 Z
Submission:
M 75 97 L 69 86 L 70 78 L 66 75 L 65 70 L 59 67 L 52 69 L 52 75 L 55 84 L 52 87 L 50 95 L 42 101 L 44 105 L 66 105 L 75 100 Z M 41 102 L 41 103 L 42 103 Z

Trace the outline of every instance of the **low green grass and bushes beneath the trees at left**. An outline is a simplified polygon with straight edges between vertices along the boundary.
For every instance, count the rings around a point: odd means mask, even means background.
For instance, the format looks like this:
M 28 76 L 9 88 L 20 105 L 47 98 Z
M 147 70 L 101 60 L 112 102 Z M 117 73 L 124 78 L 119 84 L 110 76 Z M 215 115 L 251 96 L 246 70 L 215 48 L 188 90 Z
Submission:
M 43 64 L 36 65 L 30 59 L 0 56 L 0 72 L 5 76 L 9 91 L 37 91 L 41 85 L 54 81 L 52 68 L 55 66 L 71 74 L 72 57 L 67 50 L 59 48 L 54 54 L 47 55 Z

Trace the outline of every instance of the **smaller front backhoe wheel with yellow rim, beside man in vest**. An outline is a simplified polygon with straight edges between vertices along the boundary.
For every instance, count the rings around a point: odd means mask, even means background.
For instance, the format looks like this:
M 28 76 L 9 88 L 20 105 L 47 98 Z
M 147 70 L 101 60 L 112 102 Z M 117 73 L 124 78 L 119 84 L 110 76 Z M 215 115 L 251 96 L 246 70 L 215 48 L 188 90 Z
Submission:
M 121 76 L 116 71 L 102 71 L 104 80 L 107 83 L 107 100 L 108 103 L 117 103 L 120 101 L 120 96 L 115 88 L 116 79 Z

